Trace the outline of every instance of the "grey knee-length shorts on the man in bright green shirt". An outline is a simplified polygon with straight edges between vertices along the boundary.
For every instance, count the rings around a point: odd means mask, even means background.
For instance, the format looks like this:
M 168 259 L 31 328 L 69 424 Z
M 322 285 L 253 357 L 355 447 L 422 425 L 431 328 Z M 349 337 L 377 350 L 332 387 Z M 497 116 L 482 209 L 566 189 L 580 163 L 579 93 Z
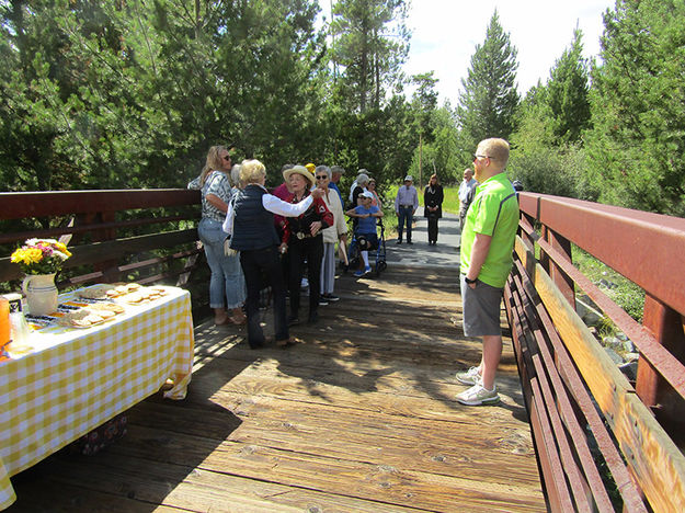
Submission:
M 503 288 L 478 281 L 476 288 L 466 283 L 461 274 L 461 305 L 464 308 L 464 334 L 466 337 L 501 335 L 500 305 Z

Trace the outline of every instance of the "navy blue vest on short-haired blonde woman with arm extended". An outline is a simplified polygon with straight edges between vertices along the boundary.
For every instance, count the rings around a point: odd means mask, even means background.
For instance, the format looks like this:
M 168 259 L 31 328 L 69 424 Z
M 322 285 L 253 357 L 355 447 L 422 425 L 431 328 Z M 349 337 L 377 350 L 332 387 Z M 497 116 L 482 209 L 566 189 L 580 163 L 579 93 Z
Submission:
M 250 184 L 236 195 L 231 248 L 250 251 L 278 246 L 274 215 L 262 205 L 266 194 L 261 186 Z

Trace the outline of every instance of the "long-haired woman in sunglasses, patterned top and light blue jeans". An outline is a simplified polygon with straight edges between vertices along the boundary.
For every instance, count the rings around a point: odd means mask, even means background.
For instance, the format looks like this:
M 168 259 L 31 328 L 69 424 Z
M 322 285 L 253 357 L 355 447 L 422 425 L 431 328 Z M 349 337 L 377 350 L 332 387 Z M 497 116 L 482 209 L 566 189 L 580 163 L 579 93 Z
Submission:
M 226 233 L 221 229 L 231 198 L 230 171 L 228 149 L 225 146 L 213 146 L 199 176 L 187 184 L 189 189 L 199 189 L 202 192 L 202 219 L 197 232 L 212 271 L 209 307 L 214 310 L 214 322 L 219 326 L 246 322 L 242 312 L 244 278 L 238 255 L 227 255 L 224 250 Z

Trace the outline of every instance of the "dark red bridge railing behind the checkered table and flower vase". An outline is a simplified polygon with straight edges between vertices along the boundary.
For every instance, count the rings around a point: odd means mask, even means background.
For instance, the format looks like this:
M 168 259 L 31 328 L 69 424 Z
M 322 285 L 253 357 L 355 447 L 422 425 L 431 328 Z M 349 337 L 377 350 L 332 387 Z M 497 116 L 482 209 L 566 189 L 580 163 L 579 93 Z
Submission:
M 186 190 L 0 193 L 4 254 L 32 237 L 64 238 L 72 256 L 60 285 L 95 281 L 169 282 L 192 287 L 202 254 L 199 192 Z M 0 259 L 0 283 L 16 288 L 19 266 Z M 205 287 L 194 300 L 205 298 Z

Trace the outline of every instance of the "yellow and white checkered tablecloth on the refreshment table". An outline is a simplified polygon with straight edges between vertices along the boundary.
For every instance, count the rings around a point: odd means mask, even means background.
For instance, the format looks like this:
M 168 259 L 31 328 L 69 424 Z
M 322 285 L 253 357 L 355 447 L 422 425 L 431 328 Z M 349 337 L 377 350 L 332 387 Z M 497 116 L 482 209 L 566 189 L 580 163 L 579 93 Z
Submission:
M 126 306 L 112 321 L 32 333 L 35 351 L 0 362 L 0 510 L 15 500 L 10 477 L 158 391 L 185 398 L 194 334 L 187 290 Z M 60 301 L 70 299 L 60 296 Z

